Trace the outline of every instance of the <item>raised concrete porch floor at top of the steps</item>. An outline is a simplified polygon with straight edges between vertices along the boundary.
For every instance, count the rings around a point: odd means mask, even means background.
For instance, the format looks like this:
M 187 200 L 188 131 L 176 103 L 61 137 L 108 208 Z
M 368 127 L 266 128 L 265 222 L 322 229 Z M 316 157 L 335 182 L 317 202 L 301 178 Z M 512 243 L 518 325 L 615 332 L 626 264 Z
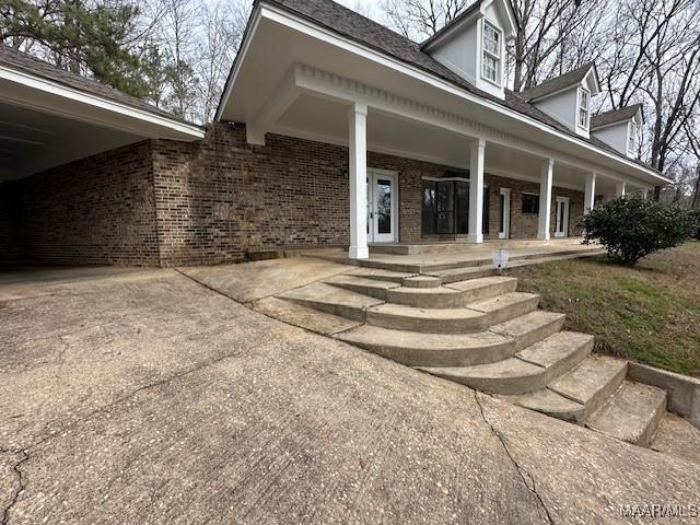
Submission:
M 491 262 L 491 252 L 508 249 L 509 262 L 521 266 L 527 261 L 537 262 L 557 258 L 585 257 L 603 253 L 598 245 L 583 245 L 580 237 L 551 240 L 489 240 L 483 244 L 466 242 L 444 243 L 398 243 L 370 245 L 368 259 L 350 259 L 341 248 L 303 252 L 302 255 L 317 257 L 334 262 L 378 268 L 415 273 L 456 268 L 487 267 Z

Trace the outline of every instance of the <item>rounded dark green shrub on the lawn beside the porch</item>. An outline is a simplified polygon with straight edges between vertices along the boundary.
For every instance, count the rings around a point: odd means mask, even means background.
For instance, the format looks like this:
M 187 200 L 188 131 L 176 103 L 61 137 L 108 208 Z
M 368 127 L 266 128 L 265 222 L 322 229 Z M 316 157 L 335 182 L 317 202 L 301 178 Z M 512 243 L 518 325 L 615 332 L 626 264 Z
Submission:
M 608 257 L 628 266 L 697 234 L 691 213 L 641 197 L 620 197 L 594 208 L 581 228 L 585 244 L 599 242 Z

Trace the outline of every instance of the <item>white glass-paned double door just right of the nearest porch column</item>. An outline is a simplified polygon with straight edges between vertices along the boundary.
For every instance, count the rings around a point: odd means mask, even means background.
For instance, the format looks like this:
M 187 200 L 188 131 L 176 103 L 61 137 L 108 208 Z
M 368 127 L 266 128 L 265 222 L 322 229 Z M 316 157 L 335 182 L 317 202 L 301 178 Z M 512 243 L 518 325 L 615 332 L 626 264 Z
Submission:
M 368 242 L 398 241 L 398 179 L 396 173 L 368 170 Z

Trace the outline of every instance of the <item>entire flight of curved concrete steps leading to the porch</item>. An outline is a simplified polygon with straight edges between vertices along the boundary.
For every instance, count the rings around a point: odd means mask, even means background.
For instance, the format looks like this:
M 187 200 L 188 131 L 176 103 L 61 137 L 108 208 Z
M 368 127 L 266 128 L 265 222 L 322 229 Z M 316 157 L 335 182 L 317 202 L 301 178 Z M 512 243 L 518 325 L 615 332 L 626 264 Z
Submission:
M 626 361 L 593 355 L 593 337 L 561 331 L 564 315 L 537 310 L 539 296 L 517 292 L 516 279 L 451 280 L 464 271 L 357 268 L 257 307 L 515 405 L 650 446 L 666 415 L 664 390 L 628 381 Z

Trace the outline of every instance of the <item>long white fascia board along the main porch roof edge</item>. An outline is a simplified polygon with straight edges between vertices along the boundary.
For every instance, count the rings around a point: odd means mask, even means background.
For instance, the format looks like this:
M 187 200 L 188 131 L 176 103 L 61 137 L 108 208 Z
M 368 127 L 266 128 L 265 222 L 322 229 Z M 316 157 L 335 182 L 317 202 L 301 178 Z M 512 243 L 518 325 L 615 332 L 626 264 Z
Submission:
M 354 52 L 355 55 L 366 58 L 368 60 L 372 60 L 376 63 L 380 63 L 382 66 L 385 66 L 387 68 L 390 68 L 395 71 L 398 71 L 400 73 L 407 74 L 409 77 L 412 77 L 413 79 L 417 79 L 428 85 L 431 85 L 433 88 L 436 88 L 439 90 L 442 90 L 446 93 L 450 93 L 452 95 L 456 95 L 467 102 L 470 102 L 472 104 L 478 104 L 480 106 L 483 106 L 488 109 L 491 109 L 495 113 L 499 113 L 501 115 L 504 115 L 506 117 L 510 118 L 514 118 L 516 120 L 520 120 L 524 124 L 527 124 L 536 129 L 538 129 L 539 131 L 542 131 L 545 133 L 548 133 L 550 136 L 553 136 L 558 139 L 561 139 L 563 141 L 567 141 L 569 143 L 573 143 L 580 148 L 583 148 L 584 150 L 592 152 L 592 153 L 596 153 L 599 154 L 604 158 L 607 158 L 609 160 L 612 160 L 615 162 L 618 162 L 620 164 L 622 164 L 623 166 L 628 167 L 628 168 L 633 168 L 635 171 L 642 171 L 644 172 L 646 175 L 650 175 L 656 179 L 658 179 L 658 182 L 661 184 L 668 184 L 672 183 L 670 179 L 655 173 L 652 170 L 648 170 L 644 168 L 643 166 L 640 166 L 639 164 L 632 162 L 632 161 L 628 161 L 625 160 L 618 155 L 614 155 L 612 153 L 609 153 L 607 151 L 600 150 L 598 148 L 596 148 L 593 144 L 590 144 L 583 140 L 576 139 L 575 137 L 571 137 L 567 133 L 563 133 L 561 131 L 558 131 L 556 129 L 553 129 L 552 127 L 546 125 L 545 122 L 541 122 L 533 117 L 528 117 L 527 115 L 523 115 L 520 114 L 517 112 L 514 112 L 512 109 L 506 108 L 505 106 L 502 106 L 500 104 L 493 103 L 491 101 L 488 101 L 486 98 L 482 98 L 480 96 L 474 95 L 471 93 L 469 93 L 468 91 L 456 86 L 455 84 L 447 82 L 443 79 L 441 79 L 440 77 L 438 77 L 436 74 L 427 72 L 420 68 L 418 68 L 417 66 L 412 66 L 409 65 L 402 60 L 399 60 L 397 58 L 394 58 L 387 54 L 381 52 L 376 49 L 373 49 L 370 46 L 363 45 L 363 44 L 359 44 L 355 40 L 338 35 L 337 33 L 332 32 L 331 30 L 327 30 L 316 23 L 313 23 L 306 19 L 303 19 L 301 16 L 294 15 L 290 12 L 288 12 L 284 9 L 280 9 L 273 5 L 269 5 L 269 4 L 262 4 L 260 3 L 260 13 L 259 16 L 261 18 L 266 18 L 272 22 L 276 22 L 278 24 L 281 25 L 285 25 L 290 28 L 293 28 L 295 31 L 302 32 L 307 34 L 308 36 L 312 36 L 314 38 L 317 38 L 320 42 L 325 42 L 327 44 L 330 44 L 332 46 L 339 47 L 341 49 L 348 50 L 350 52 Z M 243 60 L 241 60 L 242 62 Z M 231 85 L 233 85 L 234 82 L 231 82 Z M 225 103 L 228 102 L 229 95 L 230 95 L 230 89 L 226 92 L 226 96 L 224 98 L 222 98 L 222 104 L 221 107 L 223 107 L 225 105 Z M 220 107 L 220 110 L 221 110 Z

